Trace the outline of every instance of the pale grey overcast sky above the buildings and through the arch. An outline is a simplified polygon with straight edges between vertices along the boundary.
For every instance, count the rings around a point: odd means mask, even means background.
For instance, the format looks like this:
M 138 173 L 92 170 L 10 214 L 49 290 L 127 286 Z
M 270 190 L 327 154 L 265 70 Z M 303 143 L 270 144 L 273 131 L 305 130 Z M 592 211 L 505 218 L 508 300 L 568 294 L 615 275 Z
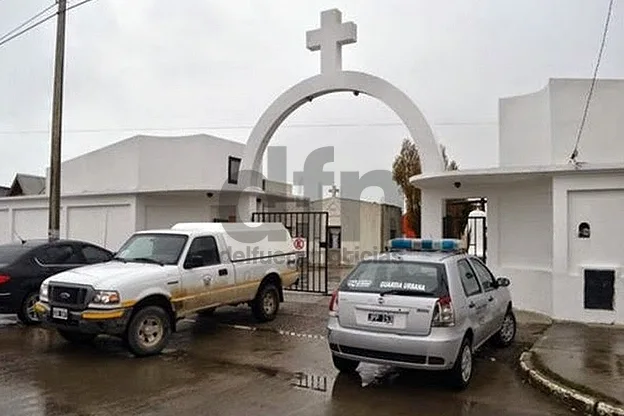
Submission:
M 0 33 L 51 3 L 0 0 Z M 476 168 L 497 164 L 500 97 L 591 77 L 608 0 L 94 0 L 67 20 L 63 159 L 138 133 L 246 141 L 279 94 L 318 73 L 305 32 L 334 7 L 358 25 L 343 68 L 405 91 L 460 168 Z M 0 47 L 0 184 L 49 163 L 54 33 L 53 19 Z M 621 1 L 599 75 L 624 77 Z M 352 126 L 301 126 L 336 123 Z M 334 146 L 339 184 L 341 171 L 390 169 L 405 137 L 383 104 L 338 94 L 303 106 L 271 144 L 288 147 L 290 181 Z

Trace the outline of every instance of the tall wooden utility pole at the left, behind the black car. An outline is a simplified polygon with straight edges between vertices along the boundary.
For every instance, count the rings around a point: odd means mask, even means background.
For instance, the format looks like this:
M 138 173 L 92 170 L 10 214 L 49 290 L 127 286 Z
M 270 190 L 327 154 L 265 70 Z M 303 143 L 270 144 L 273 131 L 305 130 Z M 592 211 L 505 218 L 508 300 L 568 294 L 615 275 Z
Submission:
M 67 0 L 57 0 L 54 97 L 52 102 L 52 141 L 50 147 L 50 193 L 48 239 L 58 240 L 61 223 L 61 131 L 63 125 L 63 72 L 65 66 L 65 11 Z

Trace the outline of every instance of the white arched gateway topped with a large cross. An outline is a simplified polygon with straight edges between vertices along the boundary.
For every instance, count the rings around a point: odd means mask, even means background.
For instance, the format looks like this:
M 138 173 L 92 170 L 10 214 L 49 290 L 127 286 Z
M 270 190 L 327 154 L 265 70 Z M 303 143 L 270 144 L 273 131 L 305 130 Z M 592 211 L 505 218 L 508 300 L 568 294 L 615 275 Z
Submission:
M 311 51 L 320 50 L 321 74 L 296 84 L 280 95 L 262 114 L 253 128 L 247 141 L 241 163 L 241 179 L 249 192 L 241 196 L 239 215 L 248 221 L 256 208 L 257 194 L 261 194 L 260 167 L 264 152 L 273 134 L 282 122 L 297 108 L 316 97 L 334 92 L 352 91 L 362 93 L 385 103 L 403 121 L 420 152 L 423 173 L 439 172 L 444 169 L 440 148 L 431 127 L 418 107 L 401 90 L 389 82 L 362 72 L 342 70 L 342 45 L 357 41 L 357 26 L 353 22 L 342 22 L 342 14 L 337 9 L 321 13 L 321 28 L 307 32 L 307 48 Z M 250 174 L 257 172 L 258 174 Z M 439 209 L 441 232 L 442 206 L 441 201 L 427 201 L 423 194 L 423 208 L 436 211 Z M 434 202 L 433 204 L 431 202 Z M 439 204 L 438 204 L 439 202 Z M 439 206 L 438 206 L 439 205 Z M 424 225 L 424 224 L 423 224 Z M 430 227 L 427 227 L 428 229 Z M 423 233 L 425 228 L 423 228 Z M 437 232 L 428 230 L 429 235 Z M 432 235 L 433 236 L 433 235 Z

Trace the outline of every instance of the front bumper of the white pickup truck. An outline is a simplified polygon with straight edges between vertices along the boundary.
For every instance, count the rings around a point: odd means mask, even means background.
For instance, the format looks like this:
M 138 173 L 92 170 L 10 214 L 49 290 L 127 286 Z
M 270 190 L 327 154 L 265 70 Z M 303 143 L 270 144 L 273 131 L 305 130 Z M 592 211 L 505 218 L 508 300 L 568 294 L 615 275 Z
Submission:
M 35 311 L 44 327 L 86 334 L 121 335 L 130 319 L 130 308 L 67 311 L 67 319 L 52 317 L 52 308 L 44 302 L 35 304 Z

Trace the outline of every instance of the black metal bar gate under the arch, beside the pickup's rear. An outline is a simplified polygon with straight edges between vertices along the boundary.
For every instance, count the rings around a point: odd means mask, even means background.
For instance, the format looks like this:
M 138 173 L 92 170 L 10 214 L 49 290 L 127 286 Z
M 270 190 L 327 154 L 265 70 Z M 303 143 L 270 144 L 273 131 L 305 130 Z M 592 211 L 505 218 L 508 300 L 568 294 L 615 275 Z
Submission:
M 251 221 L 281 222 L 293 238 L 301 237 L 306 240 L 304 255 L 298 264 L 299 279 L 294 285 L 284 289 L 328 294 L 328 212 L 254 212 Z

